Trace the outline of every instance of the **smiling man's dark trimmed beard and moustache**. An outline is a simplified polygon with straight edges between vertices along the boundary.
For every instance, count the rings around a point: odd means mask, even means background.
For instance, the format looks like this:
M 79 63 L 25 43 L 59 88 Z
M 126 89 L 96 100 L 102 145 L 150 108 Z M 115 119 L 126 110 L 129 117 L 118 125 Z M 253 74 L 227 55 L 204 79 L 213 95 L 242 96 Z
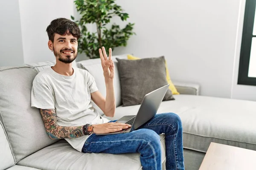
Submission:
M 66 64 L 69 64 L 69 63 L 73 62 L 77 57 L 77 52 L 72 50 L 71 48 L 70 49 L 64 48 L 64 49 L 60 50 L 59 52 L 56 51 L 54 49 L 54 47 L 52 49 L 53 49 L 53 54 L 55 55 L 55 57 L 59 61 L 64 62 Z M 67 55 L 67 54 L 63 54 L 62 51 L 73 51 L 73 53 L 71 53 L 70 55 Z

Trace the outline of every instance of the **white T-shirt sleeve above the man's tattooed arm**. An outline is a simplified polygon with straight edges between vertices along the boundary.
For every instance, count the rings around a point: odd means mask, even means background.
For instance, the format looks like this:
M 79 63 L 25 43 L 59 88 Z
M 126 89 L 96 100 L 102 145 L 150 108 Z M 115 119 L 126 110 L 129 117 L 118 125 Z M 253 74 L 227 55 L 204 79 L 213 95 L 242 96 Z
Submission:
M 46 83 L 33 82 L 31 90 L 31 107 L 55 109 L 54 96 Z

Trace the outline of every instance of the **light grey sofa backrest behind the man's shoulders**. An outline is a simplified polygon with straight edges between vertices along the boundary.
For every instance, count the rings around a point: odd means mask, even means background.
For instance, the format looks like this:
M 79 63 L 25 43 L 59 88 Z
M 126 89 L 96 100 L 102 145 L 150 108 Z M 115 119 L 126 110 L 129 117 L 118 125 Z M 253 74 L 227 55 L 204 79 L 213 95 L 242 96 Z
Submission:
M 126 58 L 127 54 L 112 57 L 115 63 L 116 106 L 119 106 L 121 105 L 121 87 L 116 57 Z M 31 108 L 33 79 L 39 71 L 53 65 L 55 65 L 55 61 L 24 64 L 17 67 L 0 67 L 0 122 L 4 127 L 0 127 L 0 143 L 3 143 L 0 150 L 1 153 L 2 150 L 5 153 L 4 159 L 0 157 L 0 160 L 5 162 L 2 164 L 0 161 L 0 170 L 11 167 L 26 156 L 58 141 L 49 138 L 39 110 Z M 105 96 L 106 87 L 100 59 L 88 59 L 81 62 L 75 60 L 73 67 L 77 67 L 77 65 L 93 75 L 99 91 Z M 8 142 L 10 143 L 9 147 L 7 147 Z

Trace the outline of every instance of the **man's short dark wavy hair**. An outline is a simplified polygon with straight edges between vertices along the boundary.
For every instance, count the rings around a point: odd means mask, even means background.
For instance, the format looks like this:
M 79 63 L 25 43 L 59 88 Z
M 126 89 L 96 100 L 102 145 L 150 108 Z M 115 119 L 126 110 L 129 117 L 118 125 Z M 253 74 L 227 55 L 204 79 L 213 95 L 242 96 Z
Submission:
M 49 40 L 54 41 L 54 34 L 68 35 L 72 34 L 79 40 L 82 36 L 80 29 L 76 23 L 66 18 L 57 18 L 52 20 L 49 26 L 46 28 Z

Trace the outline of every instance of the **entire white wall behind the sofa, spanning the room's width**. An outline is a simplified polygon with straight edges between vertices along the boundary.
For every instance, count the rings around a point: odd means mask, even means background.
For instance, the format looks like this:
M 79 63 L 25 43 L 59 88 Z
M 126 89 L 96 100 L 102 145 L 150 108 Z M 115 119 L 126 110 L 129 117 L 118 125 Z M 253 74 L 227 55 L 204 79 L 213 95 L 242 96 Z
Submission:
M 128 22 L 135 23 L 137 35 L 113 55 L 164 55 L 171 78 L 199 83 L 202 95 L 256 100 L 256 86 L 237 85 L 245 0 L 116 3 L 130 15 Z M 54 60 L 47 47 L 47 26 L 57 17 L 79 17 L 73 0 L 11 0 L 0 1 L 0 6 L 0 66 Z M 79 54 L 77 60 L 85 58 Z

